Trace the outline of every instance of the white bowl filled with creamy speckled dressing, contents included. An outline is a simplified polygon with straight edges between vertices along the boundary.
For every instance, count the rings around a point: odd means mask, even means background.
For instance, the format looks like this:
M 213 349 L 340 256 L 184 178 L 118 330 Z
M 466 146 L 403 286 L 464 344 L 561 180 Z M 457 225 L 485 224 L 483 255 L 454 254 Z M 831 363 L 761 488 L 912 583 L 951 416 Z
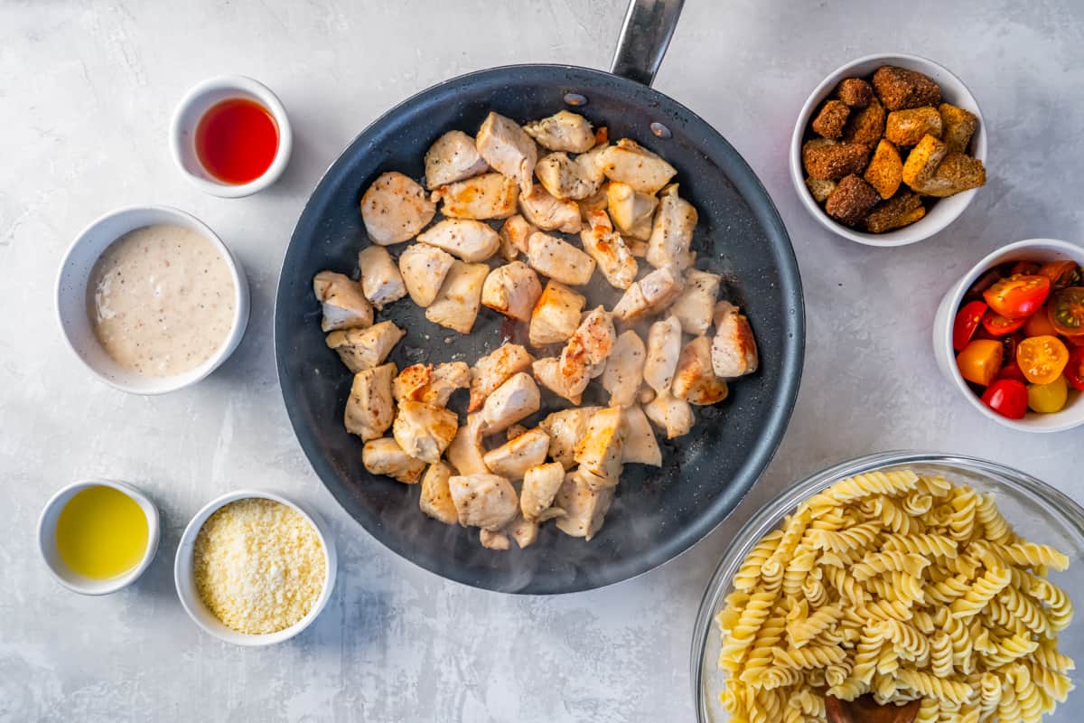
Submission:
M 206 224 L 167 206 L 98 219 L 61 263 L 64 338 L 100 379 L 138 395 L 203 379 L 237 348 L 248 282 Z

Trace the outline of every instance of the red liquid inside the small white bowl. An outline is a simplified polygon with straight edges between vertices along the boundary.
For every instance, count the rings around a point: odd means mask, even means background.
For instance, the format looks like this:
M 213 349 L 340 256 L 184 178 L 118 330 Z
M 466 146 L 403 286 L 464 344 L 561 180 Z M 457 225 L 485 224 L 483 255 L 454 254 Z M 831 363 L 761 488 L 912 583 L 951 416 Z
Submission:
M 241 185 L 267 172 L 279 152 L 279 126 L 255 101 L 231 99 L 212 105 L 196 127 L 196 155 L 207 172 Z

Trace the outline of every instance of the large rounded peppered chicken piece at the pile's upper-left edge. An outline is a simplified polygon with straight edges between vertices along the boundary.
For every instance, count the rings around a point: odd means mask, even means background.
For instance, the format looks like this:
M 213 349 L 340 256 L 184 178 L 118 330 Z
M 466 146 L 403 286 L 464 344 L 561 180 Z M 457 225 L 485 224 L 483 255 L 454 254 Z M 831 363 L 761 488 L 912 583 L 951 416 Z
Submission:
M 365 233 L 380 246 L 413 238 L 436 212 L 437 206 L 425 197 L 425 189 L 397 171 L 380 173 L 361 197 Z

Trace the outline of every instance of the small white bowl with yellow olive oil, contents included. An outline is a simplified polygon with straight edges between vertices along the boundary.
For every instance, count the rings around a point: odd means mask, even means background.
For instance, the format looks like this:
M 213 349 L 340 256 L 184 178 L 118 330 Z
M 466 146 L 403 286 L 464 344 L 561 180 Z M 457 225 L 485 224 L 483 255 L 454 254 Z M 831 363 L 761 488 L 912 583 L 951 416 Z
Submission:
M 125 482 L 73 482 L 46 504 L 38 547 L 62 585 L 107 595 L 134 582 L 154 559 L 158 508 Z

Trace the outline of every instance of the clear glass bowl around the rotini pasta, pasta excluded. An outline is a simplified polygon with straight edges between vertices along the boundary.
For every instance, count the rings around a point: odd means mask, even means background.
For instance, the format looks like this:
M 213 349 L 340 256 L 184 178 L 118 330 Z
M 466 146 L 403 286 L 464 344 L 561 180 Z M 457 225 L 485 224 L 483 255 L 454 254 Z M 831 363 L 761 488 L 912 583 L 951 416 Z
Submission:
M 788 489 L 765 506 L 737 533 L 719 563 L 700 602 L 693 636 L 692 680 L 697 720 L 724 723 L 730 720 L 719 702 L 723 673 L 717 661 L 722 641 L 714 617 L 723 598 L 731 593 L 731 580 L 752 546 L 780 525 L 798 504 L 833 482 L 874 469 L 909 467 L 918 474 L 938 474 L 955 483 L 970 485 L 980 492 L 995 492 L 997 506 L 1014 529 L 1034 542 L 1054 545 L 1069 556 L 1064 572 L 1051 572 L 1050 580 L 1077 605 L 1084 602 L 1084 509 L 1046 482 L 993 462 L 932 452 L 883 452 L 851 460 L 813 475 Z M 1058 649 L 1084 669 L 1084 624 L 1075 622 L 1058 634 Z M 1073 673 L 1070 673 L 1073 675 Z M 1067 703 L 1058 707 L 1045 723 L 1080 721 L 1080 711 Z

